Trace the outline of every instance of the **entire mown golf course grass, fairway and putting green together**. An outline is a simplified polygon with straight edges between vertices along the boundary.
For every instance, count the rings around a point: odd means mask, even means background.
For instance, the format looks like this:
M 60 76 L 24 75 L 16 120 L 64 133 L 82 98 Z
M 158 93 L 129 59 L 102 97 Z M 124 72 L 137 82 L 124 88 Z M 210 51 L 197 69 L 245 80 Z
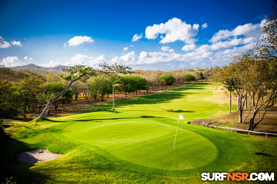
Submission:
M 228 102 L 224 90 L 199 83 L 117 100 L 116 111 L 105 102 L 87 114 L 12 122 L 1 173 L 19 183 L 200 183 L 202 172 L 275 172 L 276 141 L 186 123 L 225 114 Z M 65 155 L 16 160 L 39 147 Z

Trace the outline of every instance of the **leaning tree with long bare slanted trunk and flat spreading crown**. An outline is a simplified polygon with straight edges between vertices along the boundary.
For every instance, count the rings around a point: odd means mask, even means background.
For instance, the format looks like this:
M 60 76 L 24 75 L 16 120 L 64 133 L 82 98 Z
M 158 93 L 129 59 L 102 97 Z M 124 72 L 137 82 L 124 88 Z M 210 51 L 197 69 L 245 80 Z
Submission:
M 71 84 L 80 80 L 82 82 L 86 82 L 87 79 L 90 77 L 96 77 L 101 74 L 110 74 L 110 73 L 129 73 L 130 67 L 125 67 L 117 64 L 108 65 L 108 64 L 100 64 L 100 69 L 93 69 L 92 67 L 86 67 L 84 65 L 75 65 L 72 67 L 69 67 L 67 69 L 63 69 L 64 72 L 68 72 L 69 74 L 67 76 L 64 76 L 64 74 L 61 75 L 61 78 L 67 80 L 69 83 L 65 90 L 61 91 L 60 94 L 53 96 L 53 98 L 50 98 L 48 100 L 47 105 L 45 106 L 43 112 L 40 114 L 40 118 L 44 118 L 46 114 L 48 113 L 50 106 L 53 104 L 53 102 L 57 101 L 63 94 L 66 93 L 71 87 Z

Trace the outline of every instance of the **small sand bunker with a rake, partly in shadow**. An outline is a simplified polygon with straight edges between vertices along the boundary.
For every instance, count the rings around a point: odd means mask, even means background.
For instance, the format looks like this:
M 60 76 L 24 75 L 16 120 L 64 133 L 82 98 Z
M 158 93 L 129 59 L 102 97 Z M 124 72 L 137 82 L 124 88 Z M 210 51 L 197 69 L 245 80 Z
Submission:
M 32 149 L 23 151 L 16 155 L 19 162 L 23 164 L 34 164 L 38 162 L 46 162 L 58 157 L 63 156 L 63 154 L 51 153 L 47 149 L 42 149 L 42 153 L 39 153 L 40 149 Z

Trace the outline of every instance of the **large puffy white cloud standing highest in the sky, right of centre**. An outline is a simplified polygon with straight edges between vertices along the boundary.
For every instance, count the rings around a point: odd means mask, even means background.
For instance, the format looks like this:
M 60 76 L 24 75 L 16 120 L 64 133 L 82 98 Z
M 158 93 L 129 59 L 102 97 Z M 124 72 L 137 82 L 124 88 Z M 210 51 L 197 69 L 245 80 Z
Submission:
M 198 28 L 198 24 L 191 26 L 175 17 L 168 20 L 166 23 L 147 26 L 145 29 L 145 38 L 155 39 L 159 34 L 166 34 L 165 36 L 160 36 L 160 43 L 170 43 L 181 40 L 187 44 L 192 44 L 197 41 L 197 39 L 193 37 L 198 34 Z

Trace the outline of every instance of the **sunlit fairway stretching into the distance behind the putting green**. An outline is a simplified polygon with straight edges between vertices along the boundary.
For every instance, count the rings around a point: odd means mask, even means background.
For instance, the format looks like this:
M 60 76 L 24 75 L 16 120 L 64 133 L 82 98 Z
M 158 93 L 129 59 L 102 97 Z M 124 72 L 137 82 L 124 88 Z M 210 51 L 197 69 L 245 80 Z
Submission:
M 178 119 L 179 114 L 182 114 L 185 122 L 189 122 L 229 112 L 229 98 L 226 97 L 225 90 L 220 89 L 207 83 L 194 83 L 151 95 L 119 99 L 115 101 L 115 111 L 112 111 L 112 102 L 102 102 L 85 112 L 110 111 L 172 119 Z M 232 111 L 236 111 L 236 102 L 232 104 Z

